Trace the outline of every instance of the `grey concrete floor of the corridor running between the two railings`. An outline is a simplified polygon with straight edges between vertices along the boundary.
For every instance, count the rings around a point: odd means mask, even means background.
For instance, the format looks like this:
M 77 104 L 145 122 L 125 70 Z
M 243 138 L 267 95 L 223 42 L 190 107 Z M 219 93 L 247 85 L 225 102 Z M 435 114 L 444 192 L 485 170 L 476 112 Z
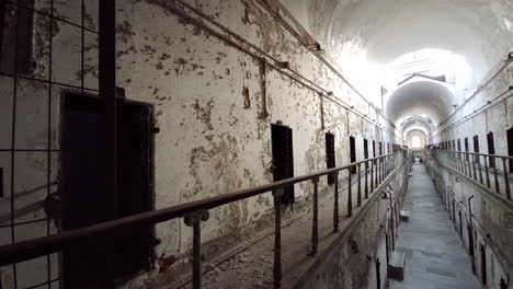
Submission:
M 470 257 L 422 164 L 413 164 L 396 251 L 406 253 L 404 280 L 389 279 L 395 289 L 481 288 Z

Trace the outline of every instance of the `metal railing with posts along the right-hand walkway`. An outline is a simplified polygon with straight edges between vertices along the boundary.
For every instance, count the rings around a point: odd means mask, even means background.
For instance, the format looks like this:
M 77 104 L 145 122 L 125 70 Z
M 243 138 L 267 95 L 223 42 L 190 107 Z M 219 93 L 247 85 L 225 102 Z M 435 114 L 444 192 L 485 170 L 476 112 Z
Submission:
M 511 200 L 513 157 L 432 149 L 432 157 Z M 501 166 L 500 170 L 498 166 Z

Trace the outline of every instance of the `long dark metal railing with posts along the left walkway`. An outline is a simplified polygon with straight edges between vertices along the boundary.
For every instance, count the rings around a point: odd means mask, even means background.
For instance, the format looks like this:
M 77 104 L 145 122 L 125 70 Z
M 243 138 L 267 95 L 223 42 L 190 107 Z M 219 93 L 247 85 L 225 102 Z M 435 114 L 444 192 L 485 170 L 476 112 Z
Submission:
M 55 235 L 32 239 L 19 243 L 0 246 L 0 266 L 15 264 L 39 256 L 53 254 L 66 248 L 73 243 L 83 242 L 86 239 L 98 236 L 112 236 L 113 233 L 119 230 L 137 227 L 156 224 L 172 219 L 184 218 L 186 226 L 193 228 L 193 288 L 201 288 L 202 282 L 202 253 L 201 253 L 201 222 L 208 220 L 208 210 L 243 200 L 250 197 L 255 197 L 265 193 L 272 192 L 274 200 L 274 267 L 273 282 L 274 288 L 281 287 L 282 280 L 282 258 L 281 258 L 281 196 L 283 189 L 287 186 L 311 181 L 314 184 L 312 198 L 312 228 L 311 228 L 311 248 L 309 254 L 316 254 L 319 244 L 319 220 L 318 220 L 318 184 L 321 176 L 335 175 L 333 184 L 333 231 L 339 230 L 340 212 L 339 212 L 339 174 L 347 171 L 347 199 L 346 211 L 347 217 L 352 216 L 353 210 L 353 181 L 356 177 L 356 205 L 362 205 L 362 197 L 368 198 L 368 194 L 374 193 L 378 186 L 394 172 L 402 161 L 407 159 L 407 151 L 397 151 L 389 154 L 384 154 L 377 158 L 366 159 L 364 161 L 351 163 L 340 167 L 324 170 L 318 173 L 311 173 L 303 176 L 292 177 L 266 185 L 261 185 L 252 188 L 241 189 L 229 194 L 224 194 L 216 197 L 210 197 L 203 200 L 176 205 L 169 208 L 152 210 L 148 212 L 137 213 L 129 217 L 114 219 L 70 231 L 64 231 Z M 364 169 L 362 170 L 362 166 Z M 353 169 L 354 167 L 354 169 Z M 356 173 L 357 171 L 357 173 Z M 363 171 L 363 173 L 362 173 Z M 353 176 L 355 174 L 355 176 Z M 364 195 L 362 196 L 362 193 Z

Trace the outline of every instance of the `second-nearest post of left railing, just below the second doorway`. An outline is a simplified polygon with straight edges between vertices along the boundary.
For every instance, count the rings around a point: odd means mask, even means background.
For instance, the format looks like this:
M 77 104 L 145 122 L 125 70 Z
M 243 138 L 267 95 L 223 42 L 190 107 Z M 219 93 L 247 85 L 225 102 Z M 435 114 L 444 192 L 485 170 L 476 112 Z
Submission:
M 282 284 L 282 195 L 283 188 L 273 192 L 274 199 L 274 264 L 273 285 L 277 289 Z

